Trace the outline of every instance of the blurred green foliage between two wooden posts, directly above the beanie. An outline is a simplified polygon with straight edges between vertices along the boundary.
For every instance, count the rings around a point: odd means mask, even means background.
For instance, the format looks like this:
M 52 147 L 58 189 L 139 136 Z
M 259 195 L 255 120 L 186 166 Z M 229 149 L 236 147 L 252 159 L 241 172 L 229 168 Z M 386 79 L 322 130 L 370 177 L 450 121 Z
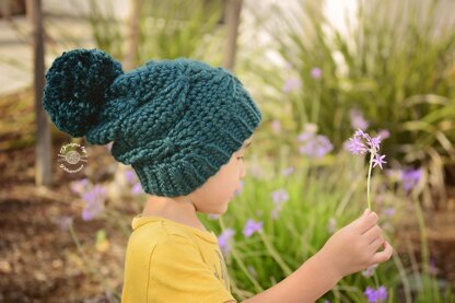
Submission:
M 213 34 L 219 33 L 222 9 L 222 1 L 219 0 L 145 1 L 140 22 L 140 60 L 177 57 L 208 59 L 210 51 L 220 54 L 220 42 L 218 46 L 213 44 Z

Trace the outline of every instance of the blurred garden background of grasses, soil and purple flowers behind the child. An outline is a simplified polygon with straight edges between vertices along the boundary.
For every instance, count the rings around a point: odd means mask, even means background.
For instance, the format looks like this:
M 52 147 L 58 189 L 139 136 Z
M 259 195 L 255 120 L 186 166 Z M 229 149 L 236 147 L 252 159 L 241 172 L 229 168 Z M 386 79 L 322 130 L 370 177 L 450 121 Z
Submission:
M 110 144 L 70 138 L 42 108 L 45 72 L 73 48 L 126 72 L 223 66 L 257 101 L 242 190 L 222 217 L 198 214 L 238 302 L 360 215 L 368 188 L 394 256 L 318 302 L 454 302 L 453 12 L 452 0 L 0 0 L 0 302 L 120 302 L 147 196 Z M 381 136 L 382 167 L 350 152 L 359 129 Z

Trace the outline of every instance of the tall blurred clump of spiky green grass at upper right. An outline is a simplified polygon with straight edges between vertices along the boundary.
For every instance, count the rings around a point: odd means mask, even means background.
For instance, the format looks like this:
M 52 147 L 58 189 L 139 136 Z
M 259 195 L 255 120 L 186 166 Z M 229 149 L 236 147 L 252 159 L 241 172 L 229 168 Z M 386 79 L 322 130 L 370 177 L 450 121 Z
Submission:
M 247 62 L 262 90 L 268 119 L 287 121 L 294 136 L 306 123 L 319 126 L 340 148 L 352 132 L 349 110 L 363 112 L 370 128 L 388 129 L 384 152 L 405 164 L 424 164 L 435 153 L 455 163 L 455 3 L 446 1 L 359 1 L 359 23 L 347 33 L 319 13 L 317 1 L 300 1 L 290 14 L 272 7 L 268 28 L 280 59 L 289 65 Z M 271 13 L 273 12 L 273 13 Z M 314 68 L 322 78 L 311 75 Z M 299 79 L 300 89 L 283 93 Z M 289 105 L 289 106 L 288 106 Z

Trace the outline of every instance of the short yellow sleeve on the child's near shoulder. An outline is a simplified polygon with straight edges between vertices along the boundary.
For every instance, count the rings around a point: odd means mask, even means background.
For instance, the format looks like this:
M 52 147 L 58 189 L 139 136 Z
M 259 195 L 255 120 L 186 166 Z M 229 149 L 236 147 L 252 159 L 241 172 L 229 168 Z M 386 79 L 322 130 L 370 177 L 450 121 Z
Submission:
M 156 244 L 150 260 L 147 302 L 236 302 L 214 276 L 192 240 L 171 234 Z

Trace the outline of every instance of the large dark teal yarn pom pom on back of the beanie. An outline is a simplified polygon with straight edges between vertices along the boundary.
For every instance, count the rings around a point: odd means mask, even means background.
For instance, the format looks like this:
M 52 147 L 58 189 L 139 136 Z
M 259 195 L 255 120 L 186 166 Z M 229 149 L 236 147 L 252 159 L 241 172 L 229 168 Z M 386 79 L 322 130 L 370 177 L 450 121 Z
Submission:
M 98 124 L 106 90 L 122 73 L 121 65 L 103 50 L 65 51 L 46 73 L 43 106 L 58 129 L 83 137 Z

